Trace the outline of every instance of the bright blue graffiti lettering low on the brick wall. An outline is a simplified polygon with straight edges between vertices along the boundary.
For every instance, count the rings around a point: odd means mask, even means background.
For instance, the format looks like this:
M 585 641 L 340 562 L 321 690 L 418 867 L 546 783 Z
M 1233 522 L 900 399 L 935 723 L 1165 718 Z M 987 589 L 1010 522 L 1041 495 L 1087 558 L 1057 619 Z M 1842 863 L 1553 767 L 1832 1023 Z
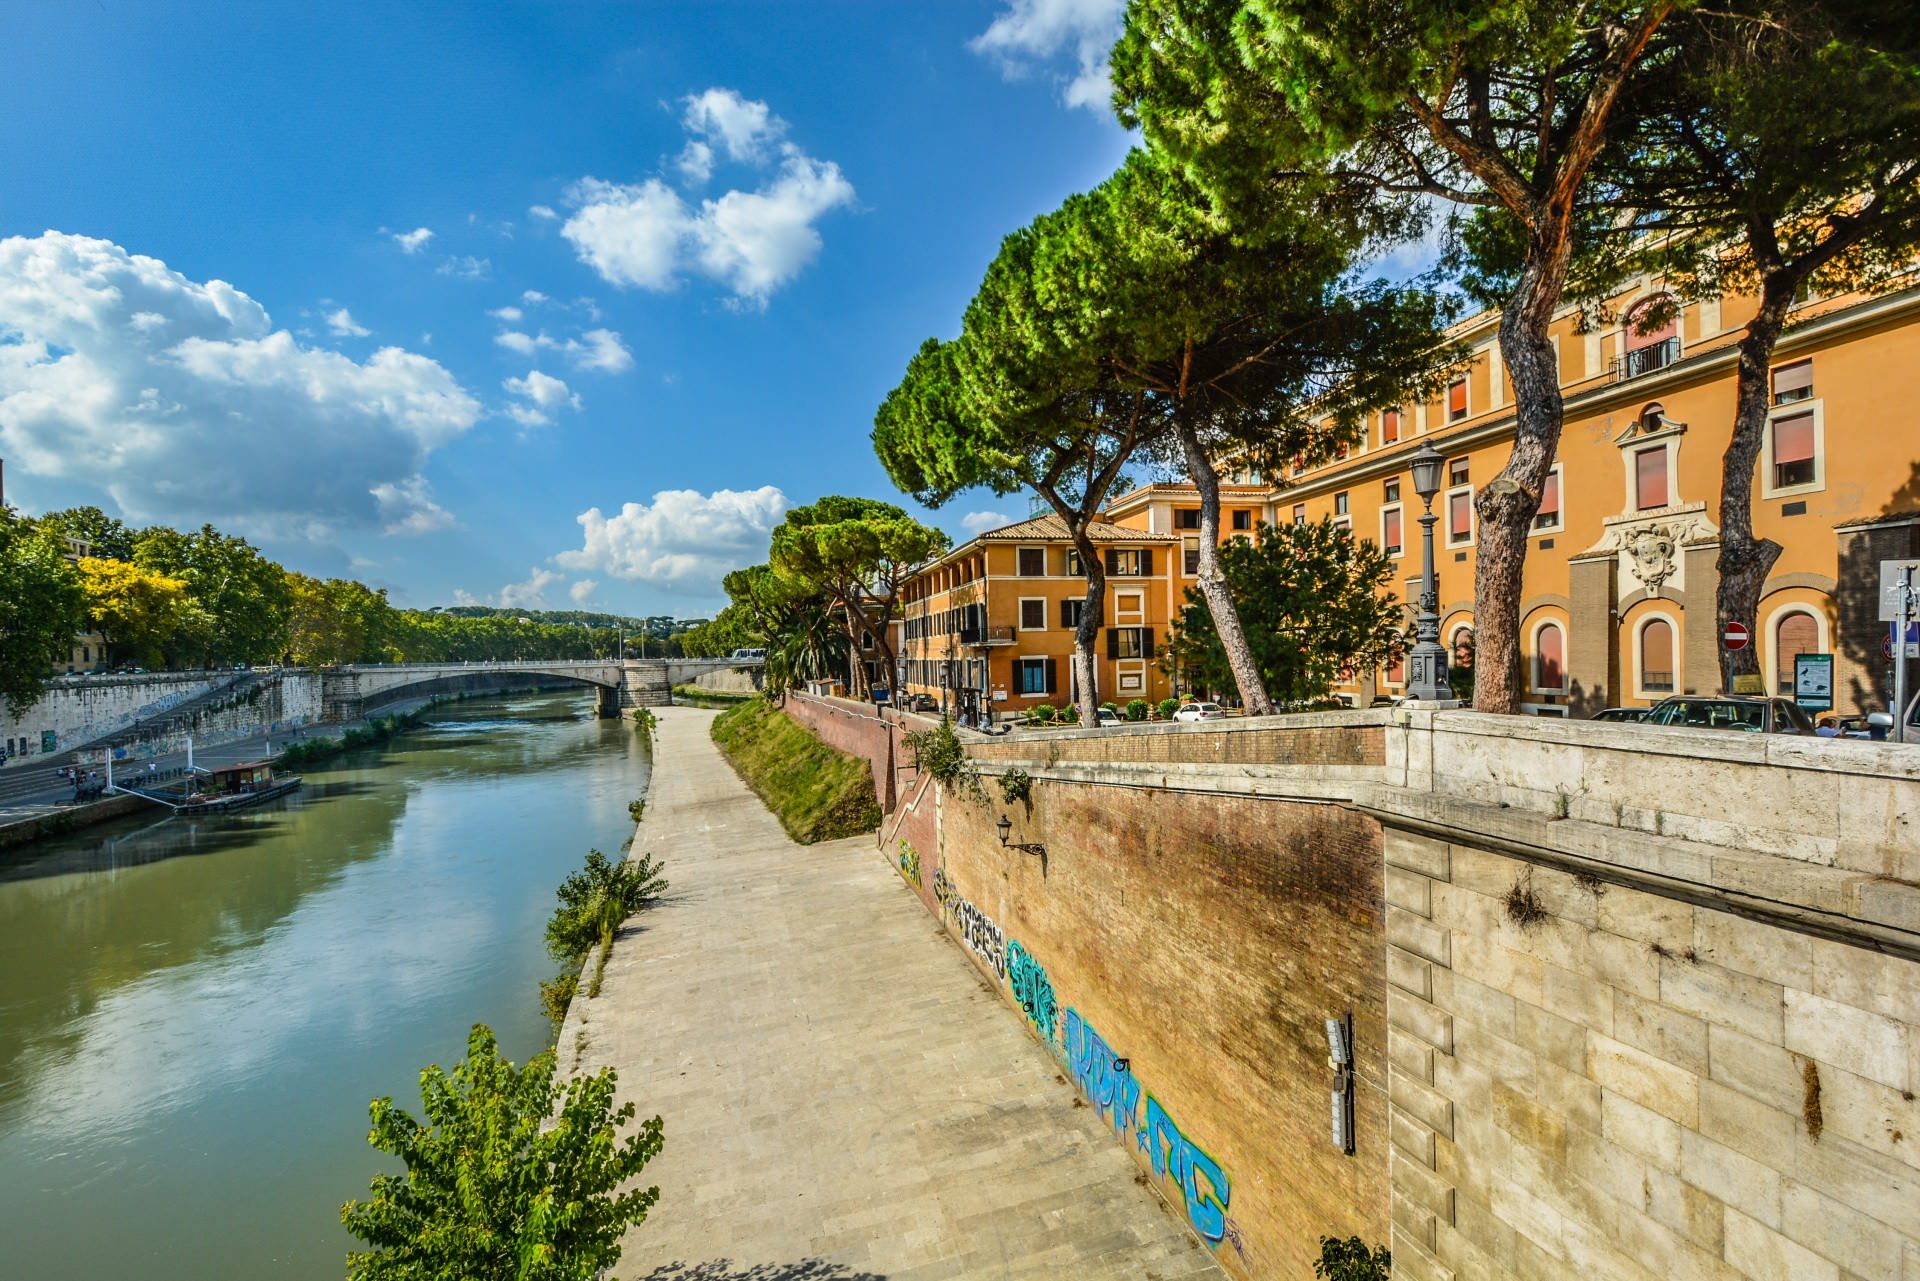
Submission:
M 1021 956 L 1025 956 L 1025 949 L 1021 949 Z M 1173 1179 L 1187 1200 L 1187 1220 L 1196 1233 L 1213 1245 L 1227 1241 L 1244 1256 L 1240 1229 L 1227 1218 L 1227 1204 L 1233 1200 L 1233 1179 L 1227 1177 L 1227 1172 L 1206 1148 L 1187 1137 L 1165 1104 L 1150 1091 L 1140 1089 L 1133 1066 L 1114 1054 L 1079 1010 L 1066 1010 L 1062 1026 L 1068 1068 L 1073 1072 L 1073 1083 L 1087 1095 L 1087 1102 L 1100 1110 L 1121 1141 L 1129 1133 L 1133 1135 L 1135 1147 L 1146 1152 L 1156 1175 Z M 1146 1102 L 1144 1114 L 1142 1099 Z

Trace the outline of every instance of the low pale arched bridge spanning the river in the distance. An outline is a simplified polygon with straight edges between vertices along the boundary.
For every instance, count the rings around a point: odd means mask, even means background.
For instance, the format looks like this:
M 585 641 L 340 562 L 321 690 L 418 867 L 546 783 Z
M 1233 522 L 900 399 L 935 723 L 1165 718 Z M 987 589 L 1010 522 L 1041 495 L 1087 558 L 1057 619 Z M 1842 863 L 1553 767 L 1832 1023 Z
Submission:
M 501 663 L 357 663 L 321 672 L 321 716 L 357 720 L 401 699 L 492 689 L 520 678 L 591 686 L 599 714 L 618 716 L 630 707 L 666 707 L 674 686 L 707 672 L 758 668 L 760 659 L 580 659 Z

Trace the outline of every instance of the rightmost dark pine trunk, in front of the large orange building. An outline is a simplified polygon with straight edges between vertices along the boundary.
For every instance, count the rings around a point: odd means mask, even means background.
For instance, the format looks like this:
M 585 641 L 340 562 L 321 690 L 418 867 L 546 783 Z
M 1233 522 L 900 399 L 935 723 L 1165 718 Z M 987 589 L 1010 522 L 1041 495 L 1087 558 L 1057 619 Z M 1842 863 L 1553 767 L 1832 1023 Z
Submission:
M 1761 593 L 1766 590 L 1766 574 L 1780 559 L 1780 544 L 1753 536 L 1753 472 L 1766 440 L 1774 344 L 1786 328 L 1797 286 L 1797 273 L 1768 273 L 1761 286 L 1761 309 L 1740 340 L 1734 434 L 1720 455 L 1720 588 L 1715 593 L 1715 626 L 1726 636 L 1726 624 L 1743 622 L 1751 641 L 1743 649 L 1720 647 L 1724 693 L 1732 693 L 1736 676 L 1755 676 L 1761 670 Z

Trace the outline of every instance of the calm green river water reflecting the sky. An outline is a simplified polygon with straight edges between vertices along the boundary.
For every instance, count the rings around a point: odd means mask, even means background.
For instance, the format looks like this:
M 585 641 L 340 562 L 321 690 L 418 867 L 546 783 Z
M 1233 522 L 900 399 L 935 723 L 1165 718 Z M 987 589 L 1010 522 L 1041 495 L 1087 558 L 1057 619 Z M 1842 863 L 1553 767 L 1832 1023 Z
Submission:
M 0 857 L 0 1277 L 338 1281 L 397 1168 L 367 1102 L 420 1116 L 476 1022 L 545 1047 L 553 889 L 645 751 L 574 695 L 428 720 L 259 810 Z

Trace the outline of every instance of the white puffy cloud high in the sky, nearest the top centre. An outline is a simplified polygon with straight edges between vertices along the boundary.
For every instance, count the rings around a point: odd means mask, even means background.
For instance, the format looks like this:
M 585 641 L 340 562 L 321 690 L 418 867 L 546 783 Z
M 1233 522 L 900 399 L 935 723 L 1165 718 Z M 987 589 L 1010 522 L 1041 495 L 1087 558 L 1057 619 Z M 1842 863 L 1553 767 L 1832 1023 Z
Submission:
M 678 159 L 687 179 L 707 181 L 724 154 L 762 169 L 760 184 L 689 204 L 659 177 L 586 177 L 566 190 L 572 215 L 561 234 L 612 284 L 664 292 L 684 275 L 703 275 L 741 303 L 766 305 L 820 255 L 814 223 L 854 202 L 852 182 L 833 161 L 781 140 L 787 125 L 764 102 L 730 88 L 687 98 L 682 123 L 691 134 Z

